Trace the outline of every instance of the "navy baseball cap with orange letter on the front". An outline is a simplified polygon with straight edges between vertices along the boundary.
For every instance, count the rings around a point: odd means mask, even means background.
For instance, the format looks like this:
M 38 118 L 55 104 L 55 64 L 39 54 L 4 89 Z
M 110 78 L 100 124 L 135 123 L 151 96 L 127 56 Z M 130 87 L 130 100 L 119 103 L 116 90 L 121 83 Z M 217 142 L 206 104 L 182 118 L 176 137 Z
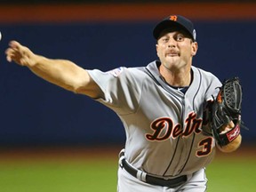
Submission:
M 158 39 L 164 29 L 174 27 L 186 30 L 192 40 L 194 42 L 196 41 L 196 29 L 194 28 L 194 24 L 191 20 L 188 20 L 181 15 L 171 15 L 159 22 L 153 30 L 153 36 Z

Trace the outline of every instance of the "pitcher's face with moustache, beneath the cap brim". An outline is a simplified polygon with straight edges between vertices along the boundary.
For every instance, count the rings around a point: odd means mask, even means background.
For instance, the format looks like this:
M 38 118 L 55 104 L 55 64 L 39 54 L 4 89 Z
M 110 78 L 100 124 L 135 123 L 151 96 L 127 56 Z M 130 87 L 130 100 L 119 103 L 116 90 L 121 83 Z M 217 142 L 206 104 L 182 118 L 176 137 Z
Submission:
M 197 43 L 183 30 L 164 30 L 157 40 L 156 52 L 165 68 L 179 69 L 190 67 L 196 55 Z

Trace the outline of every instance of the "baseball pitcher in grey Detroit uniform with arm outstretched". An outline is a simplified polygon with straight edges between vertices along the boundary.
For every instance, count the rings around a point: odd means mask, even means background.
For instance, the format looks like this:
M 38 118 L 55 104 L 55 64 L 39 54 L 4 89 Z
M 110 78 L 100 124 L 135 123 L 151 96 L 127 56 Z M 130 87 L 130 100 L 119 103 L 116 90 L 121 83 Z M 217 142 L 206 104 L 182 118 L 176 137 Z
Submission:
M 238 78 L 222 84 L 192 66 L 198 44 L 187 18 L 161 20 L 153 36 L 159 60 L 108 72 L 45 58 L 16 41 L 5 53 L 8 61 L 116 112 L 126 132 L 117 191 L 203 192 L 216 147 L 232 152 L 240 146 L 241 85 Z

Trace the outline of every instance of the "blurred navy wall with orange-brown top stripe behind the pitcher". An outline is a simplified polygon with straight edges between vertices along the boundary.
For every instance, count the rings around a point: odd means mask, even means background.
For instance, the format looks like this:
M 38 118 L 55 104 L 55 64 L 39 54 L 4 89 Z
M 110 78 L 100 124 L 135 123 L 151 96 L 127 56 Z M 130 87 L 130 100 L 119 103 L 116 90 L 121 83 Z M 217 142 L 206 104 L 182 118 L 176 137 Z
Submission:
M 124 145 L 108 108 L 49 84 L 5 60 L 12 39 L 49 58 L 107 71 L 156 60 L 152 28 L 169 14 L 194 21 L 194 65 L 244 88 L 244 144 L 254 145 L 256 4 L 254 1 L 1 1 L 0 148 Z M 193 4 L 192 4 L 193 2 Z M 128 4 L 129 3 L 129 4 Z M 254 11 L 253 11 L 254 10 Z M 147 100 L 147 98 L 145 98 Z M 150 102 L 150 100 L 148 100 Z

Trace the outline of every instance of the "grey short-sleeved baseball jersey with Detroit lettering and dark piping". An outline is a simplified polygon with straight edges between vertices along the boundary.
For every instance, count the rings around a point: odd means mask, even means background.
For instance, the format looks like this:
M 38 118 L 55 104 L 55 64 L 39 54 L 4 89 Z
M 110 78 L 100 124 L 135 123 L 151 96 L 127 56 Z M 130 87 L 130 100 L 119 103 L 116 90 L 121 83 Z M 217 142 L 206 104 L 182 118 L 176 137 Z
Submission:
M 164 178 L 191 174 L 212 161 L 215 141 L 207 128 L 207 101 L 221 83 L 192 67 L 187 92 L 164 82 L 160 63 L 147 67 L 88 70 L 124 124 L 125 157 L 134 167 Z

